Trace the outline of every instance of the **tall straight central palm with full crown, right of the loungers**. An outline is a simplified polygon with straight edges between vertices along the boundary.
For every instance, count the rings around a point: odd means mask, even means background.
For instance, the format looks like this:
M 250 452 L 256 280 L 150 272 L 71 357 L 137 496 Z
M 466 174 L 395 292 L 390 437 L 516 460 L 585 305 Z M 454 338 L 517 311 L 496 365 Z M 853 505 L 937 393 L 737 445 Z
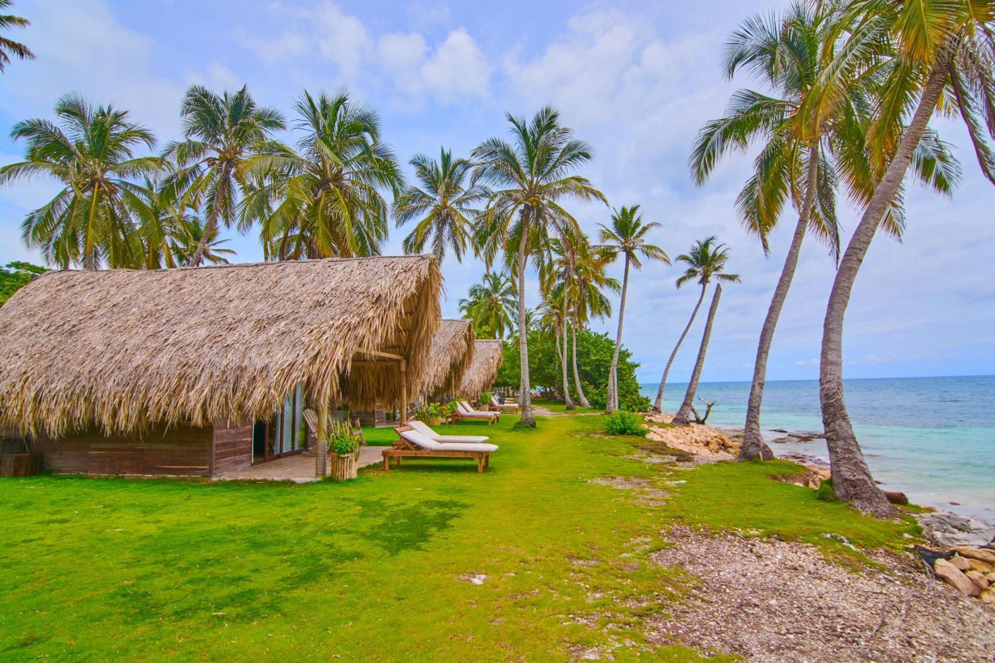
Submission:
M 600 200 L 604 195 L 586 177 L 570 174 L 591 159 L 591 147 L 560 124 L 559 112 L 545 107 L 531 120 L 506 115 L 511 140 L 490 138 L 474 149 L 481 181 L 497 187 L 481 215 L 475 234 L 485 261 L 502 250 L 505 264 L 517 270 L 518 360 L 521 366 L 521 418 L 534 426 L 528 380 L 528 338 L 525 327 L 525 267 L 550 231 L 572 232 L 576 220 L 560 204 L 564 199 Z

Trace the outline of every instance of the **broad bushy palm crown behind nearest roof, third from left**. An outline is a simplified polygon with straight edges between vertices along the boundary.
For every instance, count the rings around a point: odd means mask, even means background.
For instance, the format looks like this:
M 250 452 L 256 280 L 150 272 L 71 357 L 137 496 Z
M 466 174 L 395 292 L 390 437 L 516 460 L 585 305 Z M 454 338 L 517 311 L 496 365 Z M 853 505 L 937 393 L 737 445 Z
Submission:
M 379 114 L 344 90 L 317 98 L 304 91 L 294 108 L 297 150 L 269 142 L 253 158 L 263 183 L 246 196 L 245 223 L 262 224 L 271 257 L 281 260 L 379 255 L 390 209 L 381 190 L 397 198 L 404 186 Z

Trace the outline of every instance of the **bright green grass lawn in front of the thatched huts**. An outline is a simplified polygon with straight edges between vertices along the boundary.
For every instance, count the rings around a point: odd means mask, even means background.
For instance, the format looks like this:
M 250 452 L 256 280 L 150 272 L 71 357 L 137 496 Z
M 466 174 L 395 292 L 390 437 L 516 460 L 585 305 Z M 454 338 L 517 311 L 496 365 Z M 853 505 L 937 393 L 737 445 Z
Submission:
M 447 427 L 500 444 L 483 475 L 406 459 L 344 484 L 0 480 L 0 659 L 697 660 L 642 637 L 688 588 L 649 560 L 676 519 L 840 554 L 823 533 L 896 547 L 909 531 L 767 478 L 790 464 L 671 469 L 627 458 L 602 417 L 515 420 Z M 670 496 L 590 483 L 605 477 Z

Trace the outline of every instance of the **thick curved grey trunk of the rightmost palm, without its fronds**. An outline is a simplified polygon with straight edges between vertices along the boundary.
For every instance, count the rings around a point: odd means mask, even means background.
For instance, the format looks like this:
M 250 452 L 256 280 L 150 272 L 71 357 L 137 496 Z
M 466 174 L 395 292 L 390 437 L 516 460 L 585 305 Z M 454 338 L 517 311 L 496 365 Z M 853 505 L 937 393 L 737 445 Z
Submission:
M 829 447 L 829 462 L 833 474 L 833 489 L 837 496 L 850 502 L 866 514 L 887 516 L 893 513 L 891 505 L 875 484 L 864 453 L 861 451 L 854 428 L 847 414 L 843 396 L 843 318 L 850 302 L 850 294 L 857 279 L 857 273 L 864 262 L 871 240 L 878 225 L 895 199 L 901 180 L 929 117 L 946 84 L 947 67 L 950 63 L 950 49 L 944 48 L 933 62 L 932 71 L 926 81 L 918 108 L 908 123 L 895 157 L 885 171 L 864 216 L 854 229 L 847 250 L 836 272 L 833 290 L 826 307 L 826 320 L 822 328 L 822 356 L 819 365 L 819 401 L 822 405 L 822 423 L 826 428 L 826 445 Z

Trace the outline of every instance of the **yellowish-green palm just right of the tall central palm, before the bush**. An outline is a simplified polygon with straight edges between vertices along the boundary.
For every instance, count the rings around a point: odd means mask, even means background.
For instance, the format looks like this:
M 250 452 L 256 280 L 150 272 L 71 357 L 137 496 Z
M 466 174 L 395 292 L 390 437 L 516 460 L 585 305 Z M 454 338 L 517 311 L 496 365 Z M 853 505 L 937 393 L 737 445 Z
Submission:
M 604 247 L 592 245 L 587 238 L 574 248 L 574 273 L 572 281 L 569 322 L 572 338 L 573 385 L 577 391 L 577 402 L 583 407 L 591 404 L 584 394 L 577 369 L 577 330 L 584 329 L 592 318 L 606 318 L 612 315 L 612 304 L 605 291 L 619 292 L 617 279 L 609 277 L 605 270 L 611 263 L 610 252 Z

